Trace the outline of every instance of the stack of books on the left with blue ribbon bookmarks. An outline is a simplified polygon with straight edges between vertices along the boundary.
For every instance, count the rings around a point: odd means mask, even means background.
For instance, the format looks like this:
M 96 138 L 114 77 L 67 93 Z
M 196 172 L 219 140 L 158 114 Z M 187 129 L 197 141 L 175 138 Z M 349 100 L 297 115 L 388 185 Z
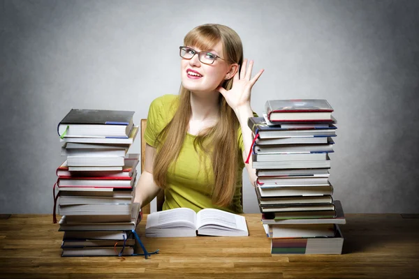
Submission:
M 133 204 L 138 154 L 134 112 L 71 110 L 58 125 L 66 160 L 57 168 L 62 256 L 133 255 L 142 218 Z M 54 186 L 55 191 L 55 186 Z

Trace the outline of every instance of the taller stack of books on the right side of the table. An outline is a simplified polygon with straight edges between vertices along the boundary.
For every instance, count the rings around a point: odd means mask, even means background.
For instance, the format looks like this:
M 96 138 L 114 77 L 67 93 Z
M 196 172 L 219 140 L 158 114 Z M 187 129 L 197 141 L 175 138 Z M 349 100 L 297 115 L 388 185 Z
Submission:
M 275 254 L 341 254 L 345 224 L 330 184 L 336 119 L 326 100 L 268 100 L 249 118 L 262 223 Z M 249 155 L 250 156 L 250 155 Z

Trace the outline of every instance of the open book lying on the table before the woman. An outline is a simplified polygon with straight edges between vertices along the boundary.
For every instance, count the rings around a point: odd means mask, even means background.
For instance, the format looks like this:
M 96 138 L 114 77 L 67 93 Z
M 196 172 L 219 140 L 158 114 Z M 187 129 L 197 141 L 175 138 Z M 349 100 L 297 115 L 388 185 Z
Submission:
M 246 219 L 219 209 L 179 208 L 149 214 L 145 226 L 147 237 L 248 236 Z

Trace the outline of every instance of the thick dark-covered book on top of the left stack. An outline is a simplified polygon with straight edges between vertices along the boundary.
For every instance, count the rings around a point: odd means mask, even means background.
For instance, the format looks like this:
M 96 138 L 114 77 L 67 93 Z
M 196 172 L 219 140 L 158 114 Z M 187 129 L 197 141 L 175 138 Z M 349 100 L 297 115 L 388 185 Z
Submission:
M 59 122 L 60 137 L 122 137 L 133 128 L 134 112 L 119 110 L 75 110 Z

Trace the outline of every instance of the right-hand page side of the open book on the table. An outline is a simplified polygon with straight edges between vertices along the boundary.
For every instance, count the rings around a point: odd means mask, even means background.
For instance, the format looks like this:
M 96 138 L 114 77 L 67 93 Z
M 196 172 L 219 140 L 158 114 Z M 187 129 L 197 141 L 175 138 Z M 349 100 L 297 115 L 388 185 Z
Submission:
M 197 214 L 198 229 L 203 226 L 215 225 L 219 229 L 244 230 L 247 231 L 246 219 L 234 213 L 221 211 L 219 209 L 203 209 Z

